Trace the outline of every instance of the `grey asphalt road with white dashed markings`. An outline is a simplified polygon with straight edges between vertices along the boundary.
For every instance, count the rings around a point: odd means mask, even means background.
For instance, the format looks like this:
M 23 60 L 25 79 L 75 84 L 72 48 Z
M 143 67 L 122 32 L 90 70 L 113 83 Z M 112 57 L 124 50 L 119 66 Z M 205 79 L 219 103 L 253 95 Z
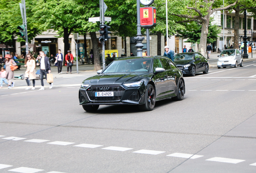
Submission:
M 150 112 L 78 103 L 83 79 L 55 75 L 53 89 L 0 90 L 0 172 L 255 173 L 256 61 L 185 76 L 183 101 Z

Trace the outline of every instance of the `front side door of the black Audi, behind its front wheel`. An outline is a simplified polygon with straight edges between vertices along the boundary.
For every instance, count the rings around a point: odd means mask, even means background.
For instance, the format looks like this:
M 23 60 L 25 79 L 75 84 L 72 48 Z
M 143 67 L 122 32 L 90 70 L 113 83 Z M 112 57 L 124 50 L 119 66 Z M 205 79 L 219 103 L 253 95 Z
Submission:
M 168 91 L 168 80 L 167 73 L 163 72 L 155 72 L 156 68 L 163 68 L 160 60 L 158 58 L 154 59 L 153 62 L 153 72 L 155 74 L 155 84 L 156 84 L 156 98 L 157 100 L 161 99 L 161 97 L 165 97 L 166 92 Z

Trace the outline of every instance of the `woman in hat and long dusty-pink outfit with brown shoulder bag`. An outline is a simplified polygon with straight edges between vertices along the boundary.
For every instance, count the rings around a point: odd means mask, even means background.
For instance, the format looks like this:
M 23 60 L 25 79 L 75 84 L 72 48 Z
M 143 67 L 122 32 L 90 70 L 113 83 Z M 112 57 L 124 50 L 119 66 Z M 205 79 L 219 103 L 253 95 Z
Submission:
M 8 89 L 14 87 L 14 82 L 12 82 L 12 78 L 14 78 L 14 72 L 10 69 L 10 66 L 17 66 L 16 62 L 11 59 L 10 55 L 7 54 L 4 57 L 5 60 L 5 70 L 6 70 L 6 78 L 8 79 Z

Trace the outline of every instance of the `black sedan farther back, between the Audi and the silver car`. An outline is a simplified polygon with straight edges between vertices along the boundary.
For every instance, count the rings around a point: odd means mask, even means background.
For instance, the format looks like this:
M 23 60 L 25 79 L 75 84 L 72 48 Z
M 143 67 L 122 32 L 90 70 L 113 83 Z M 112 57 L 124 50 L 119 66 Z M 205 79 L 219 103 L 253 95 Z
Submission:
M 174 56 L 174 63 L 182 71 L 183 74 L 195 76 L 196 73 L 203 72 L 207 74 L 209 71 L 209 63 L 207 58 L 198 52 L 179 53 Z

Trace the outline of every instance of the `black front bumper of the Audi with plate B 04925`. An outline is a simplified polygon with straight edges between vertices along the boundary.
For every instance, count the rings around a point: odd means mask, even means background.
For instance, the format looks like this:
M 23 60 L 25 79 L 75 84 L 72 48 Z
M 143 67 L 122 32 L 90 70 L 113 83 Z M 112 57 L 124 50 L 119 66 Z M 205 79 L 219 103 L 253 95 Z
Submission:
M 109 87 L 108 91 L 114 92 L 114 97 L 95 97 L 95 92 L 100 87 Z M 125 87 L 123 85 L 96 85 L 86 89 L 79 89 L 80 105 L 140 105 L 145 103 L 146 86 Z

